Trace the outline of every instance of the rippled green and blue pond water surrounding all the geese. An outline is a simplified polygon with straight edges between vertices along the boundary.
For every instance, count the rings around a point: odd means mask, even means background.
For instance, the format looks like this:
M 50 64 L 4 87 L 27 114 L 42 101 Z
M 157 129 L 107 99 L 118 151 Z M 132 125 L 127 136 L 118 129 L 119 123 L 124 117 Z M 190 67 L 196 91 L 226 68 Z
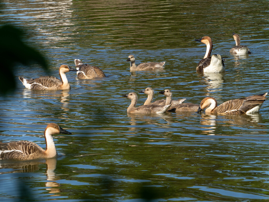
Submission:
M 197 113 L 131 115 L 122 94 L 152 87 L 174 98 L 218 103 L 268 92 L 268 12 L 263 1 L 1 1 L 1 24 L 27 30 L 25 41 L 49 60 L 51 75 L 78 58 L 107 78 L 80 80 L 71 90 L 25 89 L 1 97 L 0 140 L 45 148 L 48 123 L 58 158 L 0 162 L 0 199 L 19 201 L 268 201 L 268 110 L 251 116 Z M 232 32 L 252 54 L 234 56 Z M 206 46 L 228 57 L 224 74 L 196 73 Z M 163 71 L 130 72 L 136 63 L 165 61 Z M 18 66 L 35 78 L 42 68 Z M 59 77 L 59 76 L 58 76 Z M 159 95 L 158 95 L 159 94 Z M 139 93 L 137 105 L 146 95 Z

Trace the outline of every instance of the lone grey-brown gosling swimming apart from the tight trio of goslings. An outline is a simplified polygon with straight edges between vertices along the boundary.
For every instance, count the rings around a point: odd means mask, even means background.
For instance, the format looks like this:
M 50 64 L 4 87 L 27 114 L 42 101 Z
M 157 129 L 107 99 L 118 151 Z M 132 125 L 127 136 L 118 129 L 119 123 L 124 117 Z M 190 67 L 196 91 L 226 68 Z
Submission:
M 130 61 L 130 70 L 150 70 L 150 69 L 157 69 L 157 68 L 164 68 L 163 65 L 165 62 L 143 62 L 139 64 L 138 66 L 135 65 L 135 58 L 133 55 L 129 55 L 128 60 L 126 62 Z

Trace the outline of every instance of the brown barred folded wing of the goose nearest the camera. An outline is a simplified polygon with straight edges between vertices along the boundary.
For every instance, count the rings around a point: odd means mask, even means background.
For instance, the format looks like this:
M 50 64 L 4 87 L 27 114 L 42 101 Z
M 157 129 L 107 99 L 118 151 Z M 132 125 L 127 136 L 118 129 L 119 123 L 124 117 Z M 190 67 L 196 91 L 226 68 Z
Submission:
M 0 158 L 2 159 L 28 159 L 31 155 L 35 155 L 44 151 L 34 142 L 16 141 L 16 142 L 0 142 Z

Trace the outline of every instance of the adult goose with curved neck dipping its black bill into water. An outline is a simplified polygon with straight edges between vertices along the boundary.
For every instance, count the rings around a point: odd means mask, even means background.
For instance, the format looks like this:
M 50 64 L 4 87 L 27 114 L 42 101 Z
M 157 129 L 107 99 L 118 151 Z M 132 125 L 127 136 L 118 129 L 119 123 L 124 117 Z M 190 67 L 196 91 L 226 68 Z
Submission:
M 202 100 L 197 113 L 206 109 L 209 114 L 250 114 L 258 112 L 266 99 L 267 93 L 260 95 L 253 95 L 236 100 L 229 100 L 217 106 L 217 100 L 213 97 L 206 97 Z

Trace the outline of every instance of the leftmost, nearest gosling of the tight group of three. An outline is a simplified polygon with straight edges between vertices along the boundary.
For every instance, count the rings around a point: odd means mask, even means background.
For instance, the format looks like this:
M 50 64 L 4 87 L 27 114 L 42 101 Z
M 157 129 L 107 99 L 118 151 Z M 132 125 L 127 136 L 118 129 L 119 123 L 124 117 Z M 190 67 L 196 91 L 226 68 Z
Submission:
M 170 105 L 160 106 L 160 105 L 142 105 L 140 107 L 135 107 L 137 102 L 136 93 L 129 93 L 122 95 L 132 100 L 130 106 L 127 108 L 128 113 L 164 113 L 170 107 Z

